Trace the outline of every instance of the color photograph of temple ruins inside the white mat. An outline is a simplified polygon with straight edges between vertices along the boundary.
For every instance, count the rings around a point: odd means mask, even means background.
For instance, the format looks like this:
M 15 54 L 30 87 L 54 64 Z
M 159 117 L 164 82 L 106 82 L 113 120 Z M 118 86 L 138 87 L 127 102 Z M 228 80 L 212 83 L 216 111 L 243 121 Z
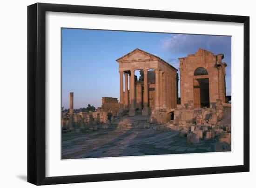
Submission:
M 232 36 L 61 28 L 61 160 L 231 152 Z

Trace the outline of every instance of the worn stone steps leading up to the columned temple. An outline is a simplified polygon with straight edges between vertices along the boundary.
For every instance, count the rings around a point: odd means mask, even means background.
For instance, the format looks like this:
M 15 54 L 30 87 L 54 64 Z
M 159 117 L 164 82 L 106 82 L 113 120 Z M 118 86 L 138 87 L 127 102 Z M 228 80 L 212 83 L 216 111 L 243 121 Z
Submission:
M 113 129 L 132 129 L 132 128 L 150 128 L 151 123 L 147 116 L 122 116 L 122 117 L 115 117 L 114 121 L 111 123 L 109 128 Z

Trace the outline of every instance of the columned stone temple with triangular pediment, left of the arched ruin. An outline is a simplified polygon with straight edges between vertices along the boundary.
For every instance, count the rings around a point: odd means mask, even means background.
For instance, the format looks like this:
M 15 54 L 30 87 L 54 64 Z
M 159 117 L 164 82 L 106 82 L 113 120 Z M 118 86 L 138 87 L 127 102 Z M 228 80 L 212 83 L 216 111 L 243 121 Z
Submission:
M 134 116 L 159 114 L 175 109 L 178 98 L 177 69 L 141 49 L 118 60 L 120 73 L 120 113 Z M 137 78 L 135 71 L 140 71 Z M 160 113 L 161 114 L 161 113 Z

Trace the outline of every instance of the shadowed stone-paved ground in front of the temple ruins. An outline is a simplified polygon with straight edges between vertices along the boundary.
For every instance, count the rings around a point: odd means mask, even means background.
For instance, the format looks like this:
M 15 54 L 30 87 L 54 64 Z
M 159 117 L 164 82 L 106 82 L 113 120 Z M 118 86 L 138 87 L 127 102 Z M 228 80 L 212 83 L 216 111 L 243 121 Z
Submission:
M 62 134 L 62 159 L 212 152 L 216 141 L 189 145 L 176 131 L 107 129 Z

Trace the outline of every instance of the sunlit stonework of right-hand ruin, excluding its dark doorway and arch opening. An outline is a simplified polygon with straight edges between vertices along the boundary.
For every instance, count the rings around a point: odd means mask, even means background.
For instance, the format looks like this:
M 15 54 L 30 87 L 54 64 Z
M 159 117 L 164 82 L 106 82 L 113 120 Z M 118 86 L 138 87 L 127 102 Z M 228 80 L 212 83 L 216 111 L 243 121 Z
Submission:
M 195 54 L 189 54 L 180 60 L 180 80 L 181 80 L 181 104 L 194 100 L 194 79 L 209 79 L 209 102 L 216 102 L 221 99 L 225 102 L 225 67 L 222 63 L 223 54 L 213 53 L 199 49 Z M 208 75 L 194 75 L 198 67 L 203 67 L 208 71 Z

